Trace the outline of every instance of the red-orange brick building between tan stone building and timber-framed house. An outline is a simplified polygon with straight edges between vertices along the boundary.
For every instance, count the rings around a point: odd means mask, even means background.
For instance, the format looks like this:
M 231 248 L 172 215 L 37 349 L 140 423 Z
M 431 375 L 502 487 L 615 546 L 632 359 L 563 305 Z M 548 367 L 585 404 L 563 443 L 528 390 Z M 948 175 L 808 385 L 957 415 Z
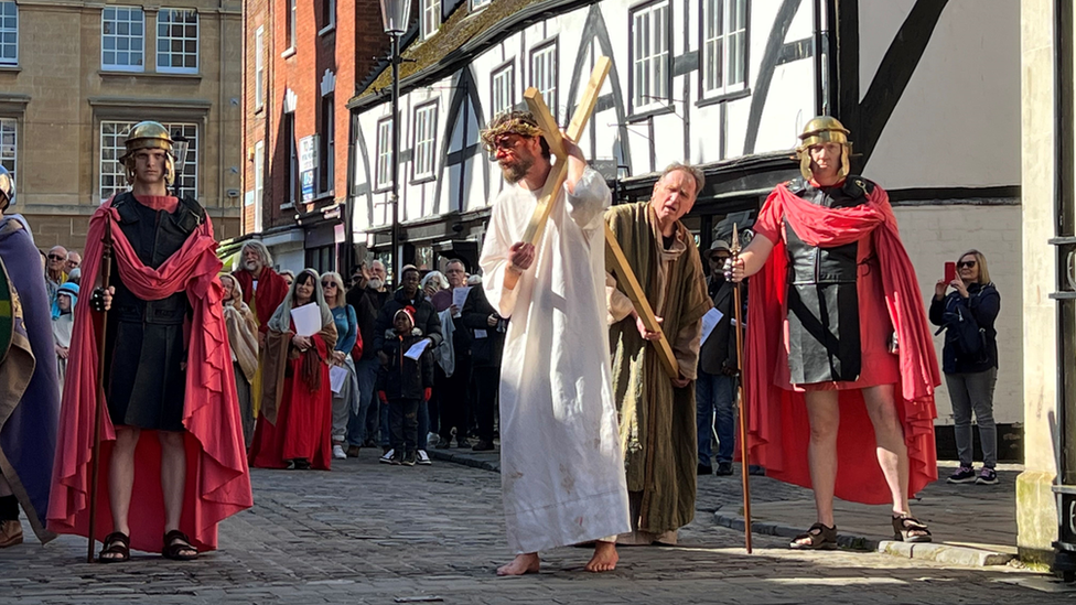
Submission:
M 244 237 L 280 268 L 348 264 L 351 115 L 383 56 L 376 0 L 245 0 Z

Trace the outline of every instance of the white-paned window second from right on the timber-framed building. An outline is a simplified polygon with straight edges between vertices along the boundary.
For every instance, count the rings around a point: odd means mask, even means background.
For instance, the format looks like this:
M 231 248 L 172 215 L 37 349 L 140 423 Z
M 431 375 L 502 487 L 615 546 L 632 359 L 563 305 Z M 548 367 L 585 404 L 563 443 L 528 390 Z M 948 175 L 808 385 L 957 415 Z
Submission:
M 669 100 L 669 3 L 657 2 L 632 13 L 632 109 Z

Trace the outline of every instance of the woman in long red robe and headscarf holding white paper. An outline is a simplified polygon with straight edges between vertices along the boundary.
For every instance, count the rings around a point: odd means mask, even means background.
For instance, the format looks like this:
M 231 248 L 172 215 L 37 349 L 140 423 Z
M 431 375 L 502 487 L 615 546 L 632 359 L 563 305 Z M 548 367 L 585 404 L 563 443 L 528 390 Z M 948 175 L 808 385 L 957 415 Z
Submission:
M 291 316 L 293 309 L 308 304 L 315 305 L 321 317 L 320 332 L 309 336 L 297 333 Z M 329 363 L 336 346 L 336 323 L 313 269 L 299 273 L 268 325 L 261 415 L 250 445 L 250 465 L 329 471 L 333 453 Z

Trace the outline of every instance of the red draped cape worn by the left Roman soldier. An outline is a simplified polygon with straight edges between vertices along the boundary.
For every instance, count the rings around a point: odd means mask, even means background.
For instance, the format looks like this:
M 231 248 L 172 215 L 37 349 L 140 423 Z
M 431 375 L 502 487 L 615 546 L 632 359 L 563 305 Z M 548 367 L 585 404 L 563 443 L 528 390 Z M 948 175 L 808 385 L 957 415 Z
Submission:
M 119 274 L 134 295 L 158 300 L 186 291 L 193 309 L 187 352 L 186 489 L 180 529 L 198 550 L 217 545 L 217 523 L 254 505 L 250 475 L 244 455 L 243 428 L 235 391 L 232 357 L 224 324 L 224 289 L 217 273 L 216 241 L 209 218 L 187 238 L 160 269 L 141 263 L 116 223 L 111 199 L 89 223 L 83 271 L 87 282 L 100 271 L 101 238 L 106 220 L 112 222 L 114 252 Z M 58 533 L 86 536 L 89 531 L 89 458 L 94 441 L 94 406 L 97 393 L 97 331 L 100 315 L 92 313 L 90 296 L 79 296 L 71 339 L 67 380 L 60 417 L 60 440 L 53 468 L 49 528 Z M 108 500 L 108 466 L 116 433 L 108 413 L 103 414 L 100 484 L 96 539 L 112 531 Z M 131 497 L 131 548 L 160 551 L 164 534 L 164 503 L 160 486 L 161 445 L 153 431 L 142 431 L 134 452 L 134 491 Z

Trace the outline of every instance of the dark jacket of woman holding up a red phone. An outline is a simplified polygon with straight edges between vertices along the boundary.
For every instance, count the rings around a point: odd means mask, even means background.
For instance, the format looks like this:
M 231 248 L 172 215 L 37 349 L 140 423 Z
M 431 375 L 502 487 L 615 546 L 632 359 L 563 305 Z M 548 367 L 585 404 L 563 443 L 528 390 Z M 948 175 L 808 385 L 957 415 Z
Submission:
M 957 317 L 957 306 L 962 306 L 962 311 L 968 311 L 968 315 L 975 318 L 976 323 L 982 328 L 984 339 L 984 350 L 977 356 L 969 356 L 964 353 L 957 342 L 954 331 L 948 329 L 953 321 Z M 972 283 L 968 287 L 968 298 L 965 299 L 959 292 L 949 292 L 940 301 L 930 300 L 930 323 L 943 326 L 946 329 L 945 345 L 942 347 L 942 371 L 945 374 L 965 374 L 986 371 L 998 367 L 998 331 L 993 323 L 1001 312 L 1001 294 L 992 283 L 980 285 Z

